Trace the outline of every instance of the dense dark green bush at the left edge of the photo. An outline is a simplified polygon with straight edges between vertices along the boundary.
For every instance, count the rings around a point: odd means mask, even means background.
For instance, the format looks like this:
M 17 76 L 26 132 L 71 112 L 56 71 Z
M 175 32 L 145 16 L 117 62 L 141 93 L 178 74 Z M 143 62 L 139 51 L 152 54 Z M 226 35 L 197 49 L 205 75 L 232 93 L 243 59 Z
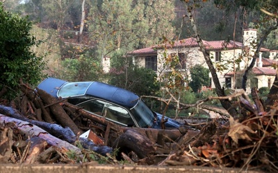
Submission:
M 37 84 L 42 78 L 45 63 L 42 57 L 35 57 L 31 51 L 37 43 L 30 34 L 32 24 L 27 17 L 10 14 L 1 6 L 0 21 L 0 85 L 1 88 L 8 87 L 8 97 L 13 97 L 19 93 L 20 79 L 28 84 Z

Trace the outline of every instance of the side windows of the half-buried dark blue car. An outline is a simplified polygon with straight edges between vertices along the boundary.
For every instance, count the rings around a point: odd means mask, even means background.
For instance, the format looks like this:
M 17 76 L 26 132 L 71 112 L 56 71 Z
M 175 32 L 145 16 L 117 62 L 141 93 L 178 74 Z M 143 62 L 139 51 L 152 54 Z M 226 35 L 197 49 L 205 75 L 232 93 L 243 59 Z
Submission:
M 117 104 L 106 102 L 104 100 L 92 99 L 81 102 L 77 105 L 79 107 L 83 107 L 85 111 L 104 117 L 106 120 L 110 120 L 119 125 L 126 127 L 136 126 L 136 123 L 133 121 L 133 118 L 131 118 L 129 111 L 118 106 Z

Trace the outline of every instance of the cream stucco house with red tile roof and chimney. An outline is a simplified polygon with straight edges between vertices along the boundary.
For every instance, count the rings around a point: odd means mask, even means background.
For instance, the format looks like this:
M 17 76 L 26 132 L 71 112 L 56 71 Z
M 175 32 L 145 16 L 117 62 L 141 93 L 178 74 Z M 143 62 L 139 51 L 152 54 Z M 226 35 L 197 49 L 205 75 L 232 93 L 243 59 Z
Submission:
M 252 56 L 256 50 L 256 30 L 244 30 L 243 43 L 234 41 L 206 41 L 203 40 L 206 51 L 210 53 L 211 60 L 217 70 L 220 84 L 225 88 L 239 89 L 241 80 L 240 73 L 250 64 Z M 269 57 L 263 57 L 269 53 Z M 189 75 L 190 67 L 195 64 L 202 64 L 208 68 L 204 60 L 204 55 L 199 50 L 195 38 L 182 39 L 173 44 L 156 45 L 148 48 L 142 48 L 130 53 L 135 62 L 145 68 L 156 71 L 158 78 L 168 73 L 170 68 L 165 66 L 165 58 L 179 56 L 179 71 Z M 252 69 L 252 81 L 255 81 L 256 88 L 263 86 L 271 87 L 274 82 L 277 71 L 272 68 L 272 64 L 277 62 L 278 51 L 270 51 L 267 48 L 261 48 L 260 56 L 256 60 L 256 66 Z M 236 75 L 235 75 L 236 74 Z M 211 76 L 211 75 L 210 75 Z M 238 81 L 238 82 L 237 82 Z M 240 83 L 240 84 L 237 84 Z M 249 87 L 250 87 L 250 82 Z M 252 82 L 253 84 L 254 82 Z M 211 88 L 215 88 L 211 79 Z

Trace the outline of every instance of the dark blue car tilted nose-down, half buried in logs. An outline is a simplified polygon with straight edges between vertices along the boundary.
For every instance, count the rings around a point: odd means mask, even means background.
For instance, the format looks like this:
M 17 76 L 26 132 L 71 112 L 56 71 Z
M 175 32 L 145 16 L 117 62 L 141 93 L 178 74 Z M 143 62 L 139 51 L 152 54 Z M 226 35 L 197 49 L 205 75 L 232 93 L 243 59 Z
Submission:
M 38 88 L 55 98 L 67 98 L 71 104 L 118 125 L 161 129 L 162 115 L 149 109 L 131 91 L 102 82 L 67 82 L 56 78 L 45 79 Z M 181 126 L 175 120 L 167 117 L 165 119 L 165 128 L 177 129 Z

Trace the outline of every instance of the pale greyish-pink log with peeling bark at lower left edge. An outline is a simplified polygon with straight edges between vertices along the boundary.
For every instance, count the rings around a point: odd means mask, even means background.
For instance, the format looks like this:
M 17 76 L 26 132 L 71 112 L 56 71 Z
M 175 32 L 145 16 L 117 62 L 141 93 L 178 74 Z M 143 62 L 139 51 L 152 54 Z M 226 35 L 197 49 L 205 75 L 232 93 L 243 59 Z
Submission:
M 4 126 L 9 122 L 13 123 L 19 131 L 21 131 L 23 134 L 26 134 L 27 136 L 38 136 L 39 138 L 46 140 L 49 145 L 56 146 L 58 148 L 65 148 L 67 150 L 76 152 L 76 154 L 81 154 L 81 149 L 79 149 L 78 147 L 75 147 L 74 145 L 67 143 L 64 140 L 60 140 L 59 138 L 52 136 L 47 131 L 44 131 L 36 125 L 32 125 L 29 122 L 24 122 L 22 120 L 10 118 L 8 116 L 0 114 L 0 125 Z

